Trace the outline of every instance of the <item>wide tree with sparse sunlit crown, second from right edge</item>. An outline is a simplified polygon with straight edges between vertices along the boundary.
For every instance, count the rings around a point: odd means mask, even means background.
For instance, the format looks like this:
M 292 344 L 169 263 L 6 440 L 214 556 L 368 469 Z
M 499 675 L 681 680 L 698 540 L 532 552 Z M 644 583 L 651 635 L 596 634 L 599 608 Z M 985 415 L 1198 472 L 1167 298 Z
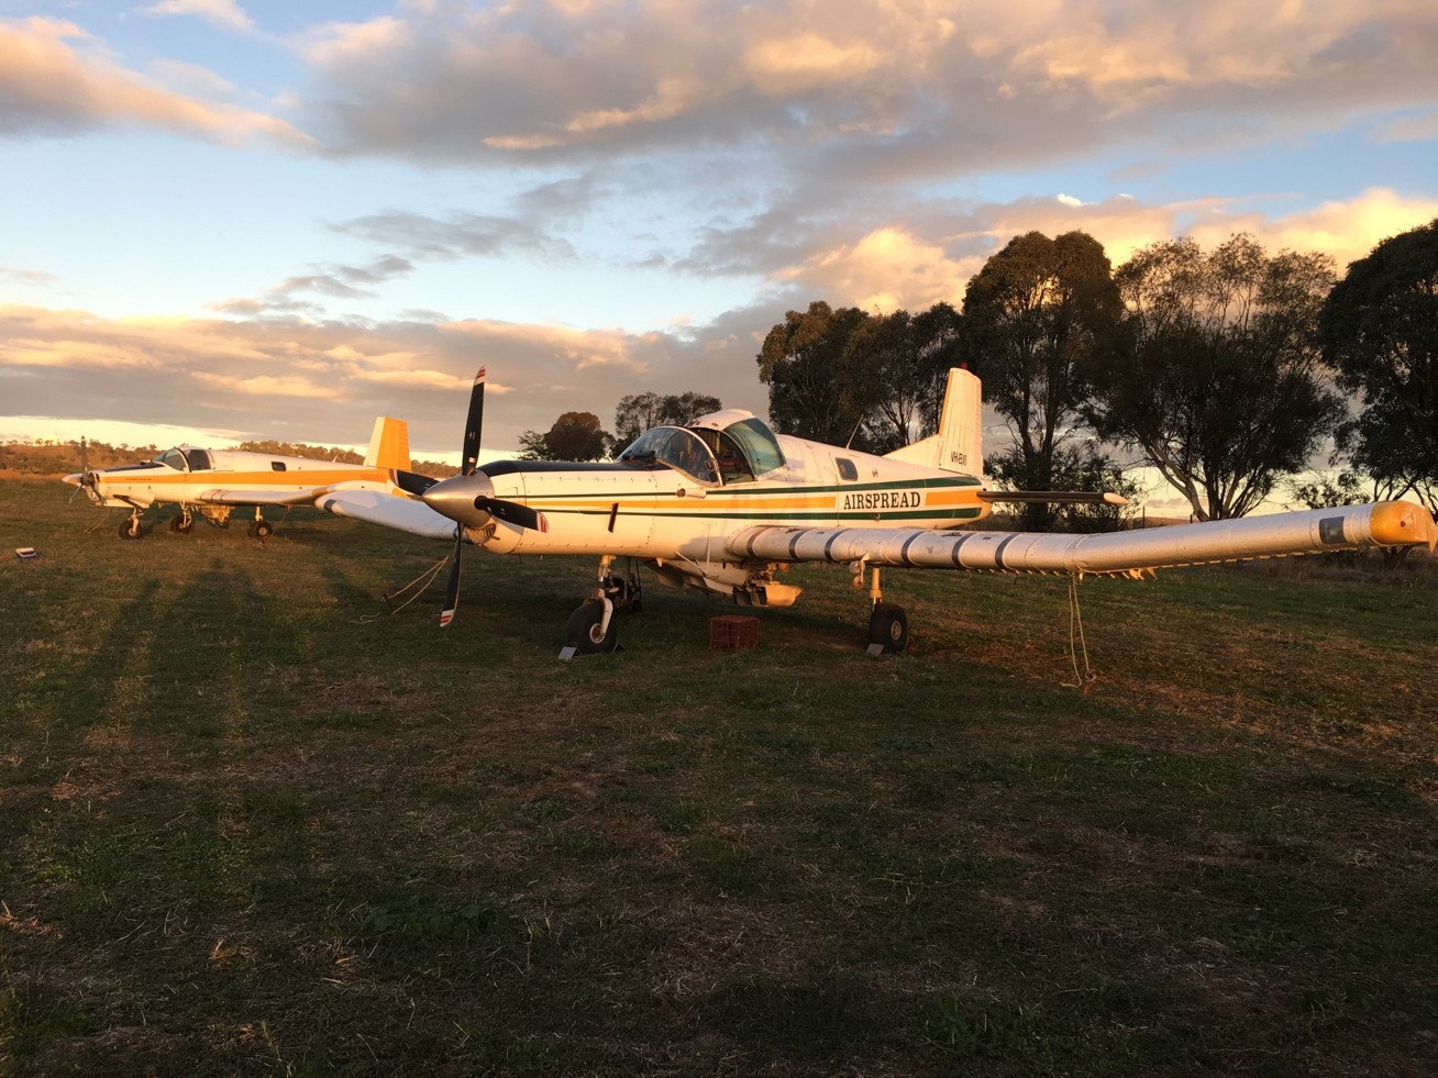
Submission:
M 1247 234 L 1209 253 L 1183 237 L 1114 279 L 1125 333 L 1096 371 L 1090 423 L 1137 448 L 1201 520 L 1244 516 L 1343 417 L 1317 346 L 1333 260 L 1270 256 Z

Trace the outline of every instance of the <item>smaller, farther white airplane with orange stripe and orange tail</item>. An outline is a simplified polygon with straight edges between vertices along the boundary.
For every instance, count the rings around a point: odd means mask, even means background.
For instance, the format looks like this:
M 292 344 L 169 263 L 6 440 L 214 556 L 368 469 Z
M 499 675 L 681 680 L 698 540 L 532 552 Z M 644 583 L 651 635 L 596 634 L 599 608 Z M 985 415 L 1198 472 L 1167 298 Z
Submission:
M 170 530 L 181 535 L 194 526 L 197 513 L 223 525 L 236 506 L 253 506 L 249 533 L 267 539 L 275 526 L 265 519 L 266 507 L 313 505 L 334 490 L 351 492 L 357 499 L 403 500 L 413 506 L 391 482 L 395 473 L 408 474 L 411 466 L 407 424 L 381 415 L 374 421 L 364 464 L 177 446 L 139 464 L 86 467 L 66 476 L 65 482 L 83 490 L 95 505 L 129 509 L 119 525 L 121 539 L 145 535 L 148 529 L 141 526 L 141 516 L 157 503 L 180 507 L 170 520 Z M 452 535 L 450 525 L 446 538 Z

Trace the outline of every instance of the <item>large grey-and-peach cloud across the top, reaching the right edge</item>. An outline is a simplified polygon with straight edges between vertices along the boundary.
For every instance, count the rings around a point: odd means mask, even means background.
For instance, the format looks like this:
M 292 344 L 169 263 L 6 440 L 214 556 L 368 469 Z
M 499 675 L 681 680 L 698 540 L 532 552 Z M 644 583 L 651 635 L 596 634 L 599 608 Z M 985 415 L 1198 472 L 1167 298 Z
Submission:
M 843 147 L 858 178 L 1409 106 L 1432 91 L 1429 7 L 851 0 L 817 19 L 812 0 L 427 3 L 301 47 L 315 126 L 347 154 L 592 162 L 782 144 L 802 171 Z

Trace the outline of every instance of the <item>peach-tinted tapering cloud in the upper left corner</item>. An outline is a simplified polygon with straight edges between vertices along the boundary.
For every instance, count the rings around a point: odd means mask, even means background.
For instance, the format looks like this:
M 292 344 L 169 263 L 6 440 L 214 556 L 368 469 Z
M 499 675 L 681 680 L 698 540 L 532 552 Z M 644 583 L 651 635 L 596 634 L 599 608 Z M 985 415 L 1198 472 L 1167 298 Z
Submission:
M 175 93 L 127 70 L 73 23 L 0 19 L 0 137 L 137 126 L 227 145 L 263 139 L 298 149 L 312 142 L 278 116 Z

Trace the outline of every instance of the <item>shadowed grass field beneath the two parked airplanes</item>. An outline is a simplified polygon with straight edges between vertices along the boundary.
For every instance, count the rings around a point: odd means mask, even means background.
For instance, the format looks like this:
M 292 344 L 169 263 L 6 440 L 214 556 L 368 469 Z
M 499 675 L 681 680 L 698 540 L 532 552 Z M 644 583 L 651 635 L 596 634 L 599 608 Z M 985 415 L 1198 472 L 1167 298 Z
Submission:
M 759 647 L 588 559 L 0 482 L 0 1072 L 1438 1072 L 1431 566 L 797 569 Z M 20 562 L 12 548 L 40 550 Z M 1421 559 L 1419 559 L 1421 561 Z

